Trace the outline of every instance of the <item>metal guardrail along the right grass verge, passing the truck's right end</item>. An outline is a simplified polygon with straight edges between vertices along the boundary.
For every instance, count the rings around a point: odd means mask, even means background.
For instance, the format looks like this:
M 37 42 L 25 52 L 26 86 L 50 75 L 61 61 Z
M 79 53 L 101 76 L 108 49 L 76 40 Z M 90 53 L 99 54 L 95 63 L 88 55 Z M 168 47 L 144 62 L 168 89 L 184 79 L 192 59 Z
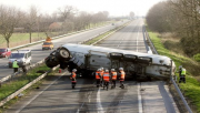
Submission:
M 151 42 L 147 30 L 144 30 L 144 32 L 146 32 L 146 37 L 147 37 L 147 40 L 148 40 L 148 42 L 149 42 L 149 45 L 150 45 L 150 48 L 152 49 L 153 53 L 154 53 L 154 54 L 159 54 L 159 53 L 157 52 L 153 43 Z M 171 69 L 170 69 L 170 72 L 171 72 L 171 74 L 172 74 L 172 60 L 171 60 Z M 190 106 L 188 105 L 187 101 L 184 100 L 184 96 L 183 96 L 182 92 L 180 91 L 179 86 L 177 85 L 176 81 L 173 80 L 173 76 L 174 76 L 174 75 L 171 75 L 171 76 L 170 76 L 170 80 L 171 80 L 172 84 L 174 85 L 177 92 L 179 93 L 179 96 L 181 97 L 181 100 L 182 100 L 186 109 L 188 110 L 188 112 L 189 112 L 189 113 L 192 113 Z

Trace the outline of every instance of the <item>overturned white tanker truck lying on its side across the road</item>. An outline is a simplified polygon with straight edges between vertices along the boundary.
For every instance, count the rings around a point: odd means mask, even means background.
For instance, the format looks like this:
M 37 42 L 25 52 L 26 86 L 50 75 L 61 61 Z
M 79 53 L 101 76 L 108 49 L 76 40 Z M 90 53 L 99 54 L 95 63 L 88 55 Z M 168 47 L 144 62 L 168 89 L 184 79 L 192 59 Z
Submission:
M 60 64 L 61 69 L 78 69 L 82 75 L 90 75 L 99 68 L 123 68 L 127 76 L 169 79 L 176 71 L 170 58 L 83 44 L 64 44 L 46 59 L 49 68 Z

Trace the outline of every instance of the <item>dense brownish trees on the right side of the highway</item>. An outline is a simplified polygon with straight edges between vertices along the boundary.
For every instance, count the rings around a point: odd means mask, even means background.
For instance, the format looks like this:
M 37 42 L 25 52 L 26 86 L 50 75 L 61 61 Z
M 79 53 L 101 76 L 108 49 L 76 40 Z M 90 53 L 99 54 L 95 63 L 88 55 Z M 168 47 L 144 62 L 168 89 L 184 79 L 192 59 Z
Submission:
M 148 27 L 157 32 L 172 32 L 181 38 L 186 54 L 200 53 L 200 1 L 168 0 L 154 4 L 147 14 Z

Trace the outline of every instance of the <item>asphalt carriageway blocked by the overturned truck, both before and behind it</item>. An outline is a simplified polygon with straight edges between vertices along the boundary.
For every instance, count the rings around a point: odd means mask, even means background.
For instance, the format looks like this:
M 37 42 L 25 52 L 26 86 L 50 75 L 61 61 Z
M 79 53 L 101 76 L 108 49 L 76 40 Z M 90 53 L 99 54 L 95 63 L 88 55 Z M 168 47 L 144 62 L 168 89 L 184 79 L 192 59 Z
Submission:
M 142 35 L 143 20 L 134 20 L 99 45 L 147 52 Z M 138 31 L 137 31 L 138 30 Z M 134 31 L 134 32 L 133 32 Z M 114 37 L 116 35 L 116 37 Z M 40 89 L 12 105 L 6 113 L 173 113 L 166 109 L 162 83 L 126 81 L 126 89 L 97 89 L 93 79 L 78 79 L 71 89 L 70 73 L 48 76 Z M 147 89 L 147 90 L 146 90 Z M 143 90 L 141 92 L 141 90 Z M 167 92 L 167 91 L 166 91 Z M 141 94 L 142 93 L 142 94 Z M 168 97 L 167 97 L 168 99 Z M 170 101 L 172 103 L 172 101 Z M 153 103 L 153 104 L 152 104 Z M 143 105 L 143 106 L 142 106 Z

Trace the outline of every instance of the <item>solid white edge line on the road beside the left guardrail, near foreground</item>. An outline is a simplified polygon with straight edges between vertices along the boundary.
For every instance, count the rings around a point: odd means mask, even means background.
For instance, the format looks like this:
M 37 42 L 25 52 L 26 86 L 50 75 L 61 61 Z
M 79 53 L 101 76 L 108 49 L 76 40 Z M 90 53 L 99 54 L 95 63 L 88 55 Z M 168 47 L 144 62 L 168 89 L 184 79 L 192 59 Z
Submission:
M 40 94 L 42 94 L 47 89 L 49 89 L 54 82 L 57 82 L 67 72 L 62 73 L 57 80 L 54 80 L 51 84 L 49 84 L 43 91 L 41 91 L 39 94 L 34 95 L 30 101 L 24 103 L 19 110 L 16 111 L 16 113 L 20 113 L 27 105 L 29 105 L 33 100 L 36 100 Z

